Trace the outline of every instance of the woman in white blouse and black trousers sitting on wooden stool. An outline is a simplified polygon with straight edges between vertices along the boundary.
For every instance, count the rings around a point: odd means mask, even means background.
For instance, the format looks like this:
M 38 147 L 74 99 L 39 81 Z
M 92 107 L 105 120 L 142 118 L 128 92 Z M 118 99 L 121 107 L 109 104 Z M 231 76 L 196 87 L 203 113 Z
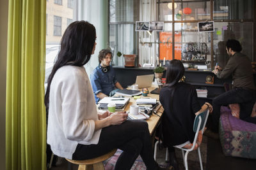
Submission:
M 114 148 L 123 150 L 115 169 L 131 169 L 141 155 L 147 169 L 161 169 L 153 158 L 147 122 L 127 121 L 127 113 L 97 114 L 84 69 L 95 50 L 95 27 L 84 21 L 68 25 L 48 78 L 45 94 L 47 143 L 52 152 L 73 160 L 92 159 Z

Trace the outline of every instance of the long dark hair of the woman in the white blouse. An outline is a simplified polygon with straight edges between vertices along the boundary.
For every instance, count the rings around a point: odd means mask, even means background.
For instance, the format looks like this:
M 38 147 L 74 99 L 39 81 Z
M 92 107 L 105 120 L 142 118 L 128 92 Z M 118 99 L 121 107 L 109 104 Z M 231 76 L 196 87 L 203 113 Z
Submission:
M 47 80 L 47 90 L 44 97 L 47 112 L 49 109 L 51 81 L 54 74 L 62 66 L 83 66 L 86 64 L 90 60 L 95 39 L 95 27 L 89 22 L 76 21 L 68 25 L 61 38 L 60 53 Z

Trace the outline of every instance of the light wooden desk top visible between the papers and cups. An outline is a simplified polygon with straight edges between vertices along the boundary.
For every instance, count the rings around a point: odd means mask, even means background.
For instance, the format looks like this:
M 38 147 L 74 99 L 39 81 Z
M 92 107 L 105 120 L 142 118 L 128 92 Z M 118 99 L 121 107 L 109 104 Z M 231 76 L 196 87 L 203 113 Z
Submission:
M 156 89 L 156 87 L 149 87 L 148 91 L 151 92 L 154 89 Z M 139 89 L 139 90 L 141 90 L 141 89 Z M 148 97 L 159 100 L 158 94 L 148 94 L 148 96 L 146 96 L 146 97 L 141 96 L 141 98 L 148 98 Z M 136 104 L 136 101 L 133 99 L 133 97 L 131 97 L 130 102 L 127 104 L 124 111 L 129 111 L 130 106 L 132 104 Z M 163 113 L 163 107 L 161 106 L 157 111 L 157 115 L 159 115 L 161 117 L 162 113 Z M 160 121 L 160 117 L 158 117 L 157 115 L 152 114 L 150 116 L 150 118 L 147 119 L 148 129 L 149 129 L 149 132 L 150 132 L 150 135 L 152 136 L 152 138 L 155 137 L 155 134 L 156 134 L 155 130 Z

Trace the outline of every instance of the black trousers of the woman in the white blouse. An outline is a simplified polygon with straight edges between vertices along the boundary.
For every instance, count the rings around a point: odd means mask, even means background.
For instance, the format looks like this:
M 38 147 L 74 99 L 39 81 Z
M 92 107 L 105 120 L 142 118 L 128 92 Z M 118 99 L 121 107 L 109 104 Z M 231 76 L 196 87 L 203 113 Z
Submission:
M 143 120 L 127 120 L 121 125 L 104 127 L 100 133 L 99 143 L 97 145 L 78 144 L 72 159 L 92 159 L 115 148 L 123 150 L 116 161 L 115 169 L 131 169 L 138 155 L 141 155 L 147 169 L 157 169 L 148 124 Z

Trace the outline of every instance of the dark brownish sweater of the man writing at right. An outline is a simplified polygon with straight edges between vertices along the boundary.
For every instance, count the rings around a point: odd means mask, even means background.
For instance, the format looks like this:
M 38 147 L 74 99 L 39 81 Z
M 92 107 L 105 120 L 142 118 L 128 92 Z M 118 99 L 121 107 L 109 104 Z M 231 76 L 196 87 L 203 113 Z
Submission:
M 243 53 L 236 52 L 230 57 L 223 71 L 216 74 L 218 78 L 228 78 L 230 75 L 232 75 L 234 87 L 246 87 L 255 90 L 252 64 Z

